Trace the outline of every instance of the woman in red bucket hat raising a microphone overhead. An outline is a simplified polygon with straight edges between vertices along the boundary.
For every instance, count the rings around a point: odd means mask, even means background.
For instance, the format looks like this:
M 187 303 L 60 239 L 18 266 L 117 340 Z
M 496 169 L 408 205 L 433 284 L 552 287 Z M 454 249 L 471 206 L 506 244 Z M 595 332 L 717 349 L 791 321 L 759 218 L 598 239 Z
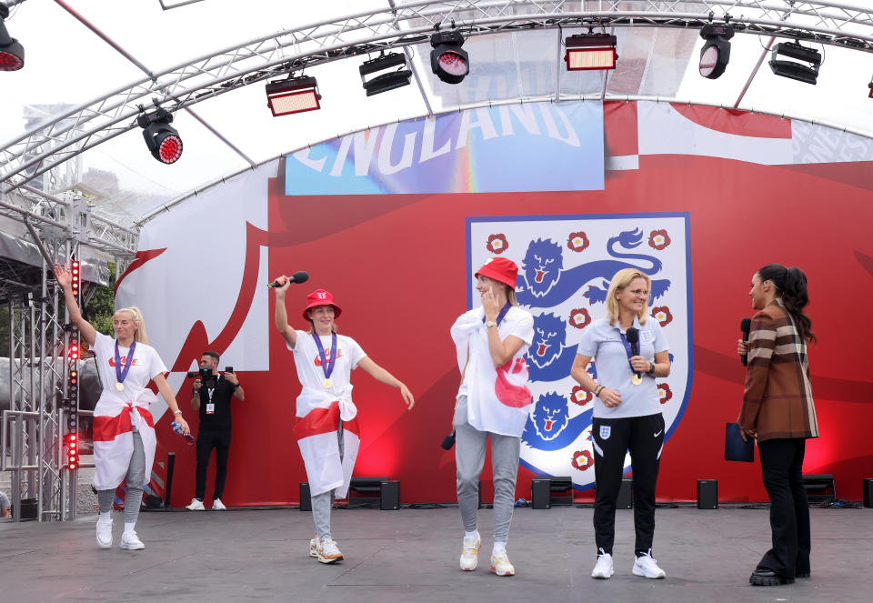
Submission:
M 291 283 L 284 275 L 276 281 L 284 283 L 274 289 L 276 328 L 294 352 L 297 378 L 303 386 L 296 401 L 294 435 L 306 466 L 316 522 L 309 556 L 333 563 L 342 560 L 343 554 L 330 535 L 330 509 L 335 497 L 346 497 L 360 444 L 357 408 L 352 402 L 352 369 L 361 367 L 376 381 L 399 388 L 409 409 L 416 401 L 409 389 L 367 357 L 354 339 L 336 334 L 334 321 L 343 310 L 334 296 L 324 289 L 310 293 L 303 310 L 309 330 L 295 330 L 288 325 L 285 307 Z

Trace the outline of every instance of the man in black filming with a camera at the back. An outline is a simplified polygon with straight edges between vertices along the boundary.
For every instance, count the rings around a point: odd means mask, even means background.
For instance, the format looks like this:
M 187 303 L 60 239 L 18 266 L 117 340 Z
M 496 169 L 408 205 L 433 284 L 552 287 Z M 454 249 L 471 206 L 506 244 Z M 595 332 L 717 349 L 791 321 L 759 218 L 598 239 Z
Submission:
M 194 498 L 186 507 L 192 511 L 205 509 L 203 498 L 206 495 L 206 469 L 209 467 L 213 448 L 216 449 L 216 487 L 212 494 L 212 509 L 226 509 L 221 502 L 221 495 L 225 489 L 227 455 L 230 451 L 230 397 L 236 397 L 240 402 L 246 399 L 246 393 L 239 385 L 233 367 L 226 367 L 223 375 L 218 373 L 219 359 L 216 352 L 204 352 L 200 358 L 200 370 L 188 373 L 189 378 L 196 378 L 191 407 L 200 413 L 196 486 Z

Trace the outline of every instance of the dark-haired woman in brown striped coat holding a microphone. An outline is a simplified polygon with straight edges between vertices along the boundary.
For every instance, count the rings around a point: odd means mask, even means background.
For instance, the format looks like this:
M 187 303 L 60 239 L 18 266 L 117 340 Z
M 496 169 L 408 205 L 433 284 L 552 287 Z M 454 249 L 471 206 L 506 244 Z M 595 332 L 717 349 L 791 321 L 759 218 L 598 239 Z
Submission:
M 804 314 L 807 277 L 797 267 L 764 266 L 748 295 L 758 310 L 748 344 L 746 389 L 737 423 L 758 440 L 761 474 L 770 497 L 773 548 L 748 579 L 755 586 L 790 584 L 809 576 L 809 506 L 803 488 L 808 437 L 818 437 L 809 384 L 807 343 L 816 336 Z

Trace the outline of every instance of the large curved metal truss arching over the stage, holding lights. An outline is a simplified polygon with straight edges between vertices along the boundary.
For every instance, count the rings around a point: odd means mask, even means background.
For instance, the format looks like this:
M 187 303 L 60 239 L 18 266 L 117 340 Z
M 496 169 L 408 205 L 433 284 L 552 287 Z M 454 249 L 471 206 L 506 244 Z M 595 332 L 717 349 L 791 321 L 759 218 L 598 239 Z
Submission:
M 306 67 L 426 42 L 437 27 L 465 35 L 572 27 L 698 28 L 728 20 L 740 34 L 802 39 L 873 52 L 873 9 L 801 0 L 454 0 L 384 9 L 285 29 L 117 88 L 0 148 L 0 193 L 135 128 L 151 98 L 177 111 Z M 426 100 L 426 99 L 425 99 Z

